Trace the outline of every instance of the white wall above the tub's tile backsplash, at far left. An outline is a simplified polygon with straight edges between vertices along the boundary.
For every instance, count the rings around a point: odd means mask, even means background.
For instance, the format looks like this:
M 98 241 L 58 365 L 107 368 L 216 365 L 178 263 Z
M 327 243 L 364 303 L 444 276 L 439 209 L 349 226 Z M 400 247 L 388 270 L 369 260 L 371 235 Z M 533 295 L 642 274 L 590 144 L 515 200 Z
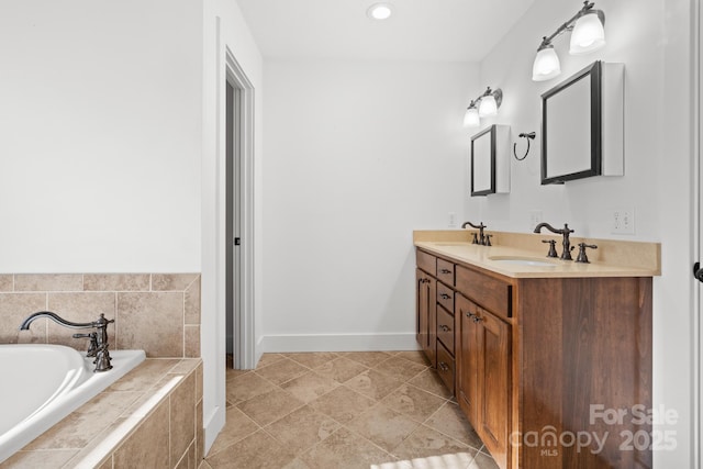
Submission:
M 0 270 L 200 271 L 200 2 L 0 13 Z

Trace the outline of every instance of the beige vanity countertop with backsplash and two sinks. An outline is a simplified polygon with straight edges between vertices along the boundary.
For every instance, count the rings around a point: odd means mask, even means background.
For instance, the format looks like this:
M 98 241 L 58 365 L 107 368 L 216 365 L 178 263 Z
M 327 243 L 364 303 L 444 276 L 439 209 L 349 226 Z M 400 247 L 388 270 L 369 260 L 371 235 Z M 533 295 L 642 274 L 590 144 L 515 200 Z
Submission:
M 546 257 L 549 246 L 543 239 L 557 239 L 561 254 L 561 236 L 491 232 L 493 246 L 470 243 L 473 230 L 415 231 L 416 247 L 448 259 L 480 267 L 511 278 L 567 277 L 654 277 L 661 275 L 661 246 L 658 243 L 622 242 L 571 237 L 577 246 L 571 255 L 576 259 L 578 243 L 594 244 L 588 249 L 590 264 Z M 509 259 L 499 260 L 499 259 Z M 520 259 L 521 261 L 513 261 Z M 547 263 L 547 265 L 542 265 Z

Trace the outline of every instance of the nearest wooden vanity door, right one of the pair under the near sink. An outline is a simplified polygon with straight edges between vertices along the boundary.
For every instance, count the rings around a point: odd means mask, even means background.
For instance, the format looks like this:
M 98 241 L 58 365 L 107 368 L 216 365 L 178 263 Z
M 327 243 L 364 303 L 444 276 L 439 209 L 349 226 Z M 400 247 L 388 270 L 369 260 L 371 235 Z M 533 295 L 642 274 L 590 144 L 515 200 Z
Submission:
M 478 309 L 479 436 L 500 467 L 506 467 L 510 422 L 511 327 L 486 310 Z

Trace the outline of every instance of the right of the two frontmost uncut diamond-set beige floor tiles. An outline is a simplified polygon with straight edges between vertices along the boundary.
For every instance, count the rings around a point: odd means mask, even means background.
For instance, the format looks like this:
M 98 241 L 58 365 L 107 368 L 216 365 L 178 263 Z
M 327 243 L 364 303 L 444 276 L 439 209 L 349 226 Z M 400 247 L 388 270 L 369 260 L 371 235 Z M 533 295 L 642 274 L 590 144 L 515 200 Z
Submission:
M 387 451 L 391 451 L 421 424 L 383 404 L 377 404 L 347 424 L 347 427 Z

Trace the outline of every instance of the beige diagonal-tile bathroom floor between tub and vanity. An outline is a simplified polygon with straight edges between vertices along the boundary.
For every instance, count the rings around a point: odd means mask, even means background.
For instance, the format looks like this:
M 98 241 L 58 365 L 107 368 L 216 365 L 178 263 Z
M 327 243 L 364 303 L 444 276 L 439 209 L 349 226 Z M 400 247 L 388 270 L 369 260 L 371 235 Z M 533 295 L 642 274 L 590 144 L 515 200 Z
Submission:
M 419 351 L 266 354 L 227 370 L 201 469 L 496 469 Z

